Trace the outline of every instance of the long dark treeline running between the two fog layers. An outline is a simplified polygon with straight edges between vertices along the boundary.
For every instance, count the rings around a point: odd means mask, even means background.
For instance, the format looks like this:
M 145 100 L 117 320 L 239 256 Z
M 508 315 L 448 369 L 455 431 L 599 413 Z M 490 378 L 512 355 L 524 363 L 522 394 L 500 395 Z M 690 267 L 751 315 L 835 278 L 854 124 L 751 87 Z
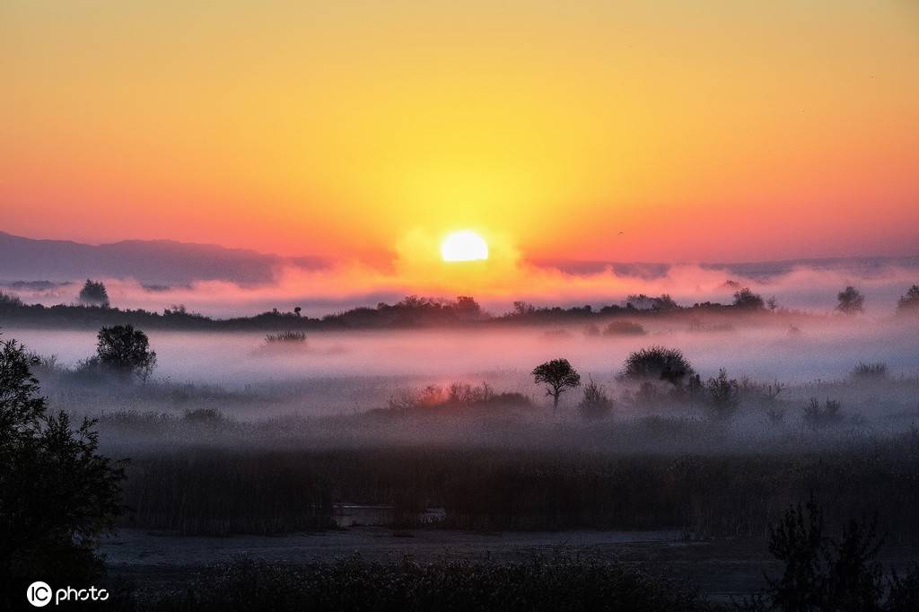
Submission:
M 743 293 L 746 291 L 746 293 Z M 500 315 L 484 312 L 476 300 L 459 296 L 455 300 L 408 296 L 394 304 L 380 302 L 376 308 L 357 307 L 323 317 L 301 315 L 301 308 L 282 312 L 274 309 L 254 316 L 218 319 L 188 312 L 184 306 L 173 306 L 163 312 L 142 309 L 119 309 L 87 304 L 58 304 L 44 306 L 27 304 L 15 296 L 0 293 L 0 325 L 37 326 L 51 328 L 98 329 L 106 325 L 134 325 L 143 329 L 172 329 L 182 331 L 293 331 L 345 329 L 411 329 L 425 327 L 516 324 L 566 323 L 601 320 L 618 315 L 655 317 L 660 315 L 698 315 L 705 313 L 749 314 L 763 312 L 788 313 L 767 308 L 761 299 L 750 304 L 749 289 L 739 292 L 732 304 L 716 302 L 681 306 L 667 295 L 630 296 L 625 305 L 610 304 L 602 308 L 590 305 L 563 308 L 538 307 L 517 301 L 514 310 Z M 757 296 L 758 297 L 758 296 Z M 796 313 L 800 315 L 799 313 Z

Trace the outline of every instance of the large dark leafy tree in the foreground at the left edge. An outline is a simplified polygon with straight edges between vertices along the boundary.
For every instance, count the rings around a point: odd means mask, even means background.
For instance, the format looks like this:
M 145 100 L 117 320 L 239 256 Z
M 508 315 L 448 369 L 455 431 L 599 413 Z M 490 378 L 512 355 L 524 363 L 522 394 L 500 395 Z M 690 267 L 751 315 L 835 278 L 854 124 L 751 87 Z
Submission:
M 0 343 L 0 608 L 40 577 L 88 582 L 98 538 L 122 512 L 118 462 L 100 456 L 95 421 L 49 414 L 25 347 Z M 4 606 L 4 603 L 7 606 Z

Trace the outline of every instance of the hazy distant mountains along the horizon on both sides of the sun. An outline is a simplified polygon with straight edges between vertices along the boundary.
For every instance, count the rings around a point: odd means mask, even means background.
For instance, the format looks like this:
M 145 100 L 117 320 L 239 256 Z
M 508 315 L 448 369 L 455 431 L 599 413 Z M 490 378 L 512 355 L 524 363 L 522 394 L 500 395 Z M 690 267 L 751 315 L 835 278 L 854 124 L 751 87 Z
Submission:
M 320 257 L 282 257 L 232 249 L 217 244 L 188 244 L 172 240 L 126 240 L 111 244 L 80 244 L 67 240 L 36 240 L 0 232 L 0 284 L 16 281 L 63 282 L 83 278 L 134 278 L 156 286 L 187 285 L 196 280 L 225 280 L 244 285 L 271 282 L 278 268 L 317 269 L 329 265 Z M 671 265 L 532 259 L 534 266 L 553 267 L 583 275 L 611 268 L 623 277 L 660 278 Z M 769 278 L 795 267 L 846 270 L 870 276 L 890 266 L 919 269 L 919 256 L 791 259 L 743 264 L 703 264 L 746 278 Z

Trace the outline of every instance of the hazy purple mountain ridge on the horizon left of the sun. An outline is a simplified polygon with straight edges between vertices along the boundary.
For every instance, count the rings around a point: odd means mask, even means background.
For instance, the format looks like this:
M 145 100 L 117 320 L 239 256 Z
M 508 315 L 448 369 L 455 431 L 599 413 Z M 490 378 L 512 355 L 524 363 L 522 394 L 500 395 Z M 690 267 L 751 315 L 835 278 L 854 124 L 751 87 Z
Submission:
M 134 278 L 142 283 L 181 285 L 196 280 L 241 284 L 270 282 L 279 266 L 318 268 L 318 257 L 281 257 L 216 244 L 172 240 L 125 240 L 80 244 L 35 240 L 0 232 L 0 281 Z

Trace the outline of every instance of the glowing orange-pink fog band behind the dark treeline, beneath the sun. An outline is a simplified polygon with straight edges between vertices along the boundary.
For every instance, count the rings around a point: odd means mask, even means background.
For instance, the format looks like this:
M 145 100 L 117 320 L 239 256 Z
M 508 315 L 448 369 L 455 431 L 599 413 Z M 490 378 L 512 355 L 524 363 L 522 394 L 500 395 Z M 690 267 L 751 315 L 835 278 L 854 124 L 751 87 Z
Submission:
M 278 269 L 275 278 L 260 284 L 203 280 L 187 284 L 152 285 L 131 278 L 104 281 L 111 304 L 121 309 L 162 312 L 176 304 L 212 317 L 249 316 L 277 308 L 295 307 L 307 316 L 323 316 L 355 307 L 375 307 L 406 294 L 453 295 L 453 283 L 437 285 L 440 270 L 408 274 L 398 266 L 391 272 L 376 268 L 339 266 L 307 270 Z M 403 274 L 404 273 L 404 274 Z M 448 275 L 449 276 L 449 275 Z M 525 281 L 523 281 L 525 279 Z M 467 278 L 469 288 L 486 311 L 500 315 L 516 300 L 538 306 L 583 306 L 598 309 L 621 304 L 630 294 L 668 294 L 682 305 L 700 302 L 731 303 L 740 287 L 765 298 L 774 297 L 783 308 L 814 313 L 832 312 L 836 294 L 855 285 L 865 295 L 868 314 L 890 314 L 897 299 L 919 280 L 919 258 L 865 258 L 811 260 L 737 265 L 585 264 L 578 266 L 516 262 L 508 269 Z M 482 282 L 480 282 L 480 280 Z M 487 280 L 487 282 L 486 282 Z M 51 283 L 40 279 L 7 281 L 0 289 L 27 303 L 46 306 L 71 304 L 84 279 Z M 522 282 L 523 281 L 523 282 Z M 482 284 L 484 283 L 484 284 Z M 515 288 L 508 290 L 508 288 Z

